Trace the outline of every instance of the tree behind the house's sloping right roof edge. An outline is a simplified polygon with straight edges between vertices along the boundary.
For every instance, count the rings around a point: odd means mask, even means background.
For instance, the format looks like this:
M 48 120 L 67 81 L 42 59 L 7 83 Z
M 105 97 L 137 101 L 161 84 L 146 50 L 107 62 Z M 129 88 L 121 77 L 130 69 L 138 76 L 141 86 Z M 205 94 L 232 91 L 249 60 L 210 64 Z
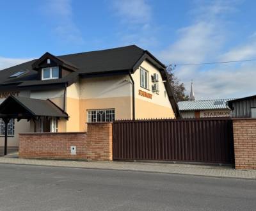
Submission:
M 180 82 L 178 77 L 174 75 L 174 68 L 175 68 L 175 66 L 169 65 L 169 66 L 167 66 L 166 70 L 167 70 L 168 77 L 170 79 L 170 82 L 171 82 L 171 85 L 173 88 L 175 98 L 176 98 L 177 102 L 189 100 L 189 95 L 186 95 L 186 93 L 185 93 L 186 88 L 184 86 L 184 83 Z

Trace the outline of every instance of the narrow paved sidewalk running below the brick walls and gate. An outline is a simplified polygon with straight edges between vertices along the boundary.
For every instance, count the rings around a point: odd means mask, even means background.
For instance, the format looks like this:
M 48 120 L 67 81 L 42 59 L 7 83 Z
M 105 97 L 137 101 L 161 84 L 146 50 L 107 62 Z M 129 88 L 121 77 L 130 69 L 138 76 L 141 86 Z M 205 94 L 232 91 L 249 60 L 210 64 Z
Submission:
M 256 179 L 256 171 L 235 170 L 227 166 L 202 166 L 189 164 L 166 164 L 156 162 L 86 162 L 71 160 L 42 160 L 0 157 L 0 164 L 24 164 L 69 168 L 115 169 L 122 171 L 145 171 L 182 175 L 214 176 L 225 178 Z

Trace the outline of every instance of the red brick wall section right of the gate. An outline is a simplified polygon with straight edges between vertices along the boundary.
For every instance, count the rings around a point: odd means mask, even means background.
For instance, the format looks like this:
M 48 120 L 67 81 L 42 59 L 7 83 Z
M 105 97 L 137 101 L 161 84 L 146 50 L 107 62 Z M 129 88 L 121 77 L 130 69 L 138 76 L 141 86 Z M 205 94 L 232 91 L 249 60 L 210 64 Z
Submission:
M 236 169 L 256 169 L 256 119 L 233 120 Z

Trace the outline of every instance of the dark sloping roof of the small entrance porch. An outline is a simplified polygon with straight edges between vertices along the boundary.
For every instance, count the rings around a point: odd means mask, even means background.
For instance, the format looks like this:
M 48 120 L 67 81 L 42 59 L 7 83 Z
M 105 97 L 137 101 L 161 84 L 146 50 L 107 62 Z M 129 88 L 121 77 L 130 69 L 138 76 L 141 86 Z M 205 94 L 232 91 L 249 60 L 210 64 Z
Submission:
M 6 100 L 4 100 L 4 102 L 1 104 L 3 105 L 4 109 L 6 109 L 6 105 L 4 105 L 5 101 L 9 101 L 8 106 L 10 106 L 10 102 L 11 104 L 13 104 L 14 102 L 14 104 L 17 103 L 21 105 L 33 116 L 52 116 L 68 118 L 68 114 L 61 110 L 60 107 L 58 107 L 56 104 L 51 102 L 51 100 L 38 100 L 34 98 L 16 97 L 11 95 L 10 97 L 6 98 Z M 1 105 L 0 109 L 2 107 Z M 17 105 L 15 104 L 15 106 Z M 13 111 L 13 113 L 15 112 L 16 111 Z

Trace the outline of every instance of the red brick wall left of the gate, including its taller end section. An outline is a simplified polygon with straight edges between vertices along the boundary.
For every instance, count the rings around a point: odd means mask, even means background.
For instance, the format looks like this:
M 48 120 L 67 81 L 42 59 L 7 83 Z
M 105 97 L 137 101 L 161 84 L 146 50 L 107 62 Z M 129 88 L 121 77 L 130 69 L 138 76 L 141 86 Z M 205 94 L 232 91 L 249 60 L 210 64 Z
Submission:
M 26 133 L 19 139 L 20 157 L 112 160 L 112 123 L 90 123 L 87 133 Z

